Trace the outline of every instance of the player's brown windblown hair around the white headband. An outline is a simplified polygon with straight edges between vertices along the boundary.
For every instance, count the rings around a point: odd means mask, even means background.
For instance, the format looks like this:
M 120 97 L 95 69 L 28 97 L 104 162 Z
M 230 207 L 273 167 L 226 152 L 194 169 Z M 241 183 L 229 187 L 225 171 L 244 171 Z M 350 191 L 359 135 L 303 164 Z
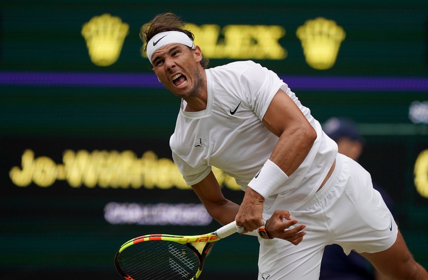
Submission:
M 156 15 L 150 23 L 143 25 L 140 31 L 140 39 L 143 41 L 144 52 L 147 53 L 147 43 L 150 39 L 160 32 L 165 31 L 179 31 L 189 36 L 190 40 L 194 40 L 195 36 L 189 30 L 184 29 L 186 23 L 184 23 L 176 14 L 163 13 Z M 201 65 L 203 68 L 207 68 L 209 59 L 202 56 Z

